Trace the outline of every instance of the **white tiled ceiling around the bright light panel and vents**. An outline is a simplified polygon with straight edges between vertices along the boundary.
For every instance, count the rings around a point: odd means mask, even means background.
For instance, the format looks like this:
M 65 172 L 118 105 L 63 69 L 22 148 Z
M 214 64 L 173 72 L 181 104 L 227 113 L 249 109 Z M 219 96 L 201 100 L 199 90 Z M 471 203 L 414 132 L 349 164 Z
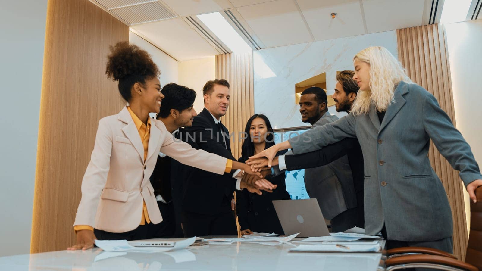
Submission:
M 91 0 L 111 9 L 147 0 Z M 131 29 L 177 60 L 220 54 L 183 17 L 230 9 L 262 48 L 362 35 L 423 25 L 432 0 L 150 0 L 174 19 Z M 108 4 L 108 8 L 106 8 Z M 102 5 L 100 5 L 102 6 Z M 332 19 L 331 13 L 337 13 Z M 429 11 L 428 11 L 429 12 Z M 441 9 L 440 9 L 440 12 Z M 118 14 L 113 14 L 117 16 Z M 122 19 L 122 18 L 120 18 Z M 428 19 L 427 19 L 428 20 Z M 126 21 L 126 20 L 124 20 Z M 148 20 L 146 20 L 148 21 Z M 129 23 L 127 23 L 129 24 Z

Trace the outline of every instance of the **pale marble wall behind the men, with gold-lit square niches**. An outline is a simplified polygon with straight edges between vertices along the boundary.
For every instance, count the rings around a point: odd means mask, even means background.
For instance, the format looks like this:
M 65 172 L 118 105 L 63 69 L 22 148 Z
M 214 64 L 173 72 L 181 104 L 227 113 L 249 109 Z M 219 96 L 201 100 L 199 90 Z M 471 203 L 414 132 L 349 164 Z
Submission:
M 353 69 L 353 56 L 369 46 L 384 46 L 397 57 L 397 33 L 387 31 L 254 51 L 254 113 L 266 114 L 273 128 L 306 126 L 295 104 L 295 84 L 326 72 L 333 95 L 336 71 Z M 328 108 L 334 115 L 335 106 Z

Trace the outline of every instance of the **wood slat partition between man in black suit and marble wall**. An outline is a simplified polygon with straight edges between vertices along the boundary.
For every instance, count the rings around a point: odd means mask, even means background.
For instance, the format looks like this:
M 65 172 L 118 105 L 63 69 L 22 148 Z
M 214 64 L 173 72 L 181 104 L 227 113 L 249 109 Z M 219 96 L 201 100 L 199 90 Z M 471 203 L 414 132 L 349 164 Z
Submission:
M 233 156 L 240 158 L 242 132 L 254 114 L 253 53 L 216 55 L 216 79 L 225 79 L 230 84 L 229 108 L 221 122 L 233 135 Z

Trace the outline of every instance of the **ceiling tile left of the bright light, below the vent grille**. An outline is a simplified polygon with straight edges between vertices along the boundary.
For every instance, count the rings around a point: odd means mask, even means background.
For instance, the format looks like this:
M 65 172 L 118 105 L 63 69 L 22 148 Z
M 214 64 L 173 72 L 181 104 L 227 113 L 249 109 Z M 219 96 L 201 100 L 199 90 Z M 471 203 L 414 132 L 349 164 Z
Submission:
M 219 54 L 182 18 L 137 25 L 132 28 L 179 61 Z

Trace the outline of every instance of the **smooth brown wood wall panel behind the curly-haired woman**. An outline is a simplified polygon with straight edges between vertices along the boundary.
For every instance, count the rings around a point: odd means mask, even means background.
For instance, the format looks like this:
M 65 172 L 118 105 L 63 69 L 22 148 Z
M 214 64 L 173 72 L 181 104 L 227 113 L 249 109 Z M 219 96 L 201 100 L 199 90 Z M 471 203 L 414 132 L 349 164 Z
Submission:
M 105 75 L 109 45 L 128 40 L 129 27 L 89 0 L 48 1 L 31 253 L 75 244 L 98 122 L 123 106 Z

